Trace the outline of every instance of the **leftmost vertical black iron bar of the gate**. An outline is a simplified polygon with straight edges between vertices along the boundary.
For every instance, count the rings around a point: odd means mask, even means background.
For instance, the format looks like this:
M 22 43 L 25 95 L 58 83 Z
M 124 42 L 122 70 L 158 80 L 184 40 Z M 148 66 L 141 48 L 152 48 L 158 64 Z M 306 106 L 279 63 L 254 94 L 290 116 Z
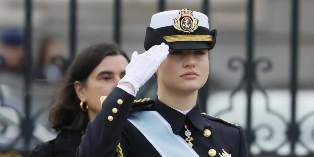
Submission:
M 32 0 L 25 0 L 25 62 L 24 62 L 24 113 L 25 119 L 21 124 L 24 137 L 24 148 L 29 149 L 30 139 L 32 137 L 32 122 L 30 118 L 31 103 L 31 68 L 32 68 Z

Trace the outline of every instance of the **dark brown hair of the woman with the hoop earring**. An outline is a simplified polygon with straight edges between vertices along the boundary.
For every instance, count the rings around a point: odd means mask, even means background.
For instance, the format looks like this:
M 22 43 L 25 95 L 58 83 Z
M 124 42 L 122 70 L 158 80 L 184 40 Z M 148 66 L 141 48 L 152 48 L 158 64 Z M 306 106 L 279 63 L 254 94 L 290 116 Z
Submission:
M 49 114 L 49 122 L 53 129 L 60 131 L 86 128 L 89 118 L 87 112 L 83 112 L 80 108 L 80 100 L 75 92 L 74 82 L 84 83 L 89 74 L 105 57 L 115 55 L 122 55 L 130 62 L 126 53 L 120 50 L 116 44 L 95 44 L 76 56 L 64 76 Z

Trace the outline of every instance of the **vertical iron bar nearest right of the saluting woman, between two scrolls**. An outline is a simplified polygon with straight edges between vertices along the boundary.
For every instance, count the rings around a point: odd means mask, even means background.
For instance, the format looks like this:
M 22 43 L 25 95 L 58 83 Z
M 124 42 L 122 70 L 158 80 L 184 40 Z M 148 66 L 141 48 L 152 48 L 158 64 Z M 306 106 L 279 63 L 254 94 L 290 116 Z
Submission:
M 252 136 L 252 92 L 254 81 L 254 0 L 247 2 L 247 32 L 246 32 L 246 95 L 247 95 L 247 108 L 246 108 L 246 134 L 247 134 L 247 149 L 250 152 L 251 144 L 253 141 Z

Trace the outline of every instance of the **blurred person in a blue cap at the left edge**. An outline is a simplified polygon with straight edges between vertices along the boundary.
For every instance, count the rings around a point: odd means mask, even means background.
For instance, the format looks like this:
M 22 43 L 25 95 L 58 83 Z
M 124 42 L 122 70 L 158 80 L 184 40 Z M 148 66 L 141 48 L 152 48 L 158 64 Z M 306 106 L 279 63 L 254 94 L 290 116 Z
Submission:
M 23 69 L 25 61 L 23 31 L 6 28 L 0 33 L 0 96 L 5 105 L 23 111 Z

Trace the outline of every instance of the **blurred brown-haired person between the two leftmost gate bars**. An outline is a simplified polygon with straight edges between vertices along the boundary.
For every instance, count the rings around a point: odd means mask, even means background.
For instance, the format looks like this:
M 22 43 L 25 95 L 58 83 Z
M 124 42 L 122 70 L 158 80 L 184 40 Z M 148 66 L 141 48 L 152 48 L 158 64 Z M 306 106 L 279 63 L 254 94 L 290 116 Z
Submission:
M 67 68 L 67 60 L 61 54 L 61 43 L 49 35 L 41 40 L 35 78 L 38 81 L 57 83 Z

